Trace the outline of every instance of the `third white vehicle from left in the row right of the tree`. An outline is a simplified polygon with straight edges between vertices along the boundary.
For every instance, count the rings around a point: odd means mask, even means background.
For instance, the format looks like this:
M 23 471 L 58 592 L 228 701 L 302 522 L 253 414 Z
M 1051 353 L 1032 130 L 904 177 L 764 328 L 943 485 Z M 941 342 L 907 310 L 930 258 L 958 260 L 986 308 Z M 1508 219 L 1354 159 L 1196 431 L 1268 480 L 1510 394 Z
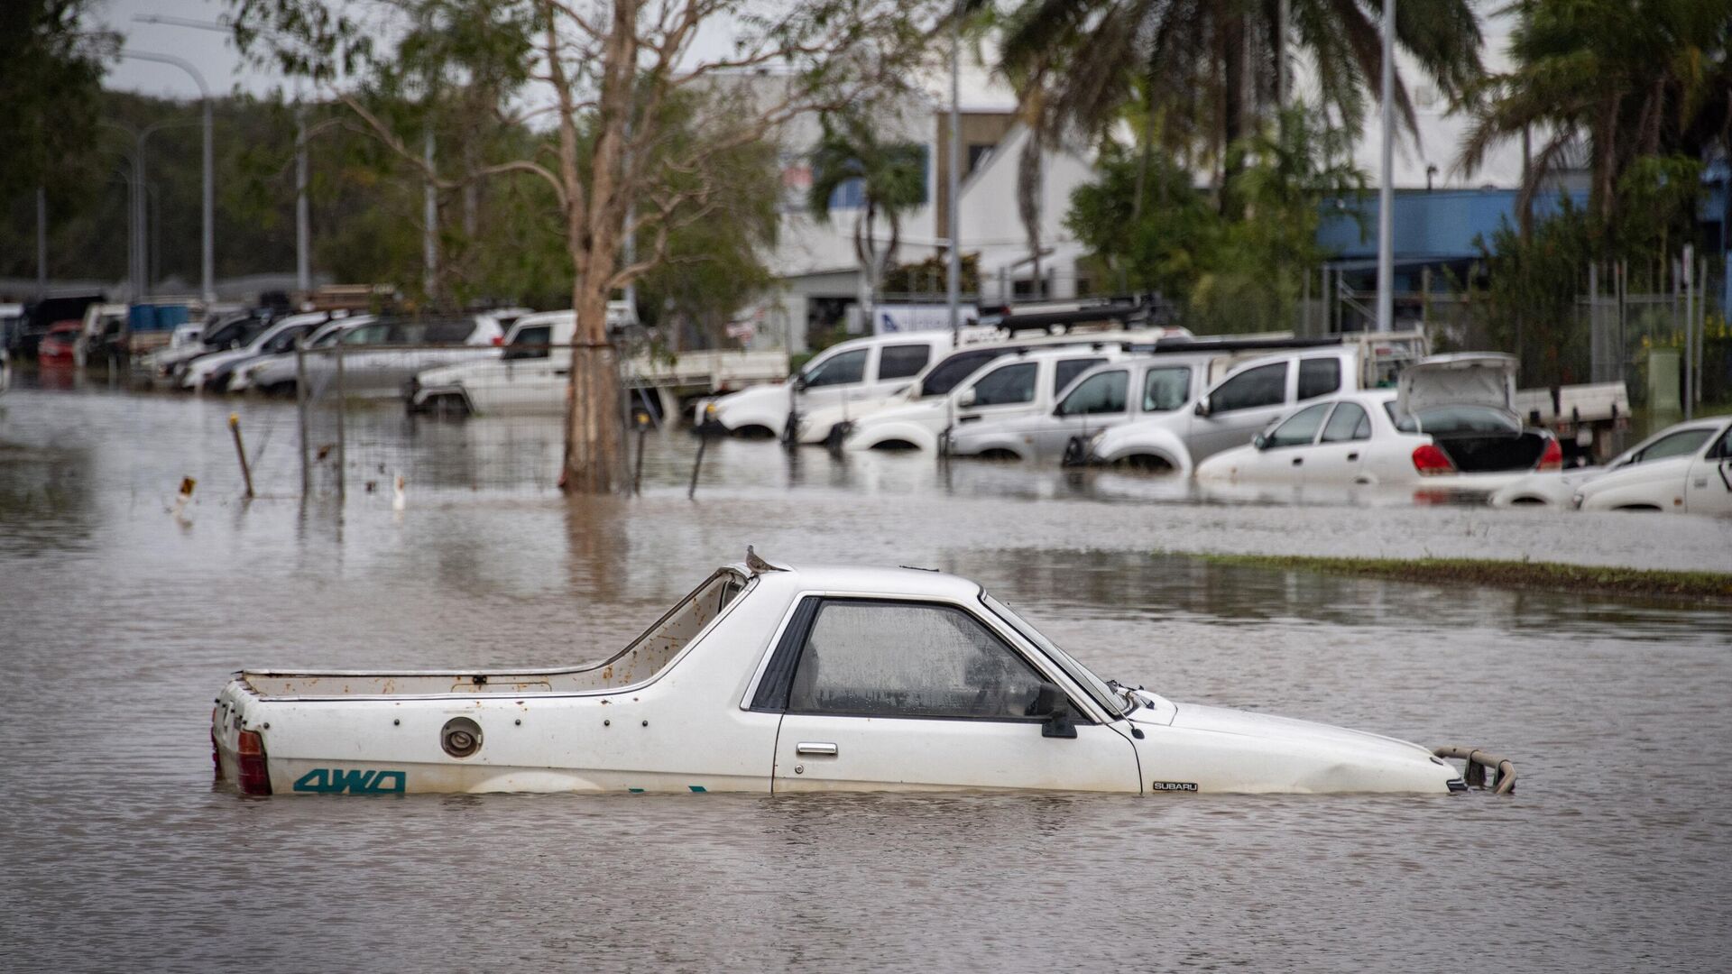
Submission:
M 897 402 L 840 425 L 842 445 L 850 451 L 937 451 L 946 430 L 1051 412 L 1055 397 L 1070 380 L 1119 359 L 1124 354 L 1117 348 L 1089 345 L 1006 352 L 958 383 L 949 395 Z

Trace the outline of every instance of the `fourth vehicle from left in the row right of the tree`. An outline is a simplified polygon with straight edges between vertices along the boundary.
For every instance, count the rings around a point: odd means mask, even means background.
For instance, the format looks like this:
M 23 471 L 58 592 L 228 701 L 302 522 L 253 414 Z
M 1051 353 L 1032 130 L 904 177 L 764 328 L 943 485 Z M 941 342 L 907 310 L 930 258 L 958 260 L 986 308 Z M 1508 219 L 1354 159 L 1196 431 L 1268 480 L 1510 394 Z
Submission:
M 946 449 L 951 456 L 982 459 L 1058 459 L 1072 440 L 1088 442 L 1108 426 L 1190 406 L 1235 362 L 1266 354 L 1266 347 L 1254 352 L 1174 350 L 1095 366 L 1058 393 L 1055 409 L 953 426 Z

